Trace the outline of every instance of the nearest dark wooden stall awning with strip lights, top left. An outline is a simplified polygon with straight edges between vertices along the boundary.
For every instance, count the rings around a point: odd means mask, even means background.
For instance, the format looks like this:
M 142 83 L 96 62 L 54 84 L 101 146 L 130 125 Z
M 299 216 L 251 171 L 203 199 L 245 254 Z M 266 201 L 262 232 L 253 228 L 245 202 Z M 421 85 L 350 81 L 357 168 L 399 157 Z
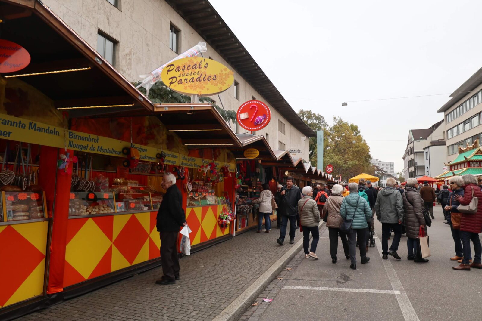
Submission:
M 146 96 L 40 1 L 1 0 L 0 15 L 1 38 L 23 46 L 31 56 L 26 68 L 4 77 L 14 76 L 35 87 L 59 109 L 77 107 L 68 109 L 71 117 L 154 109 Z

